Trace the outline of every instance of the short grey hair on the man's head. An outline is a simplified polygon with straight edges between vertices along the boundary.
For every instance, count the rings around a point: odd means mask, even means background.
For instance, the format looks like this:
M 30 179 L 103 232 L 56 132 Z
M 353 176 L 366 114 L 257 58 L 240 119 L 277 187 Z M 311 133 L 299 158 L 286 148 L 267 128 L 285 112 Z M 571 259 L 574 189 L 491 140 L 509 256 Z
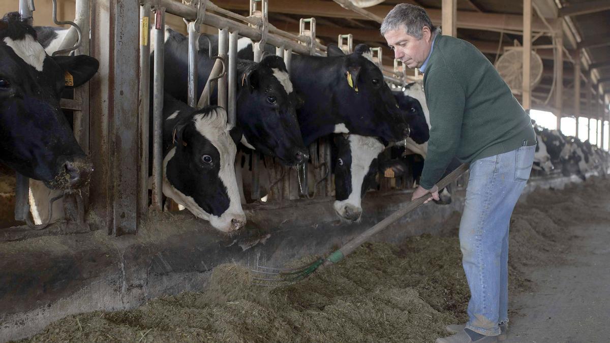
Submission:
M 381 35 L 385 36 L 388 31 L 401 29 L 404 25 L 406 34 L 412 35 L 418 40 L 422 39 L 422 27 L 428 26 L 434 34 L 436 27 L 423 7 L 412 4 L 398 4 L 387 13 L 381 23 Z

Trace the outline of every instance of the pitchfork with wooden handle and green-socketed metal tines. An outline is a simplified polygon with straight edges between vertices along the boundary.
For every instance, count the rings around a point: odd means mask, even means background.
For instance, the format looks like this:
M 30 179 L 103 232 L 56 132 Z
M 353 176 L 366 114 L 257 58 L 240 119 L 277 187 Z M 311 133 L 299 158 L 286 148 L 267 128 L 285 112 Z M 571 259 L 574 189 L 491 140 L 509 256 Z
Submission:
M 441 179 L 436 186 L 439 187 L 439 190 L 447 187 L 451 182 L 458 179 L 467 170 L 468 164 L 460 165 L 458 168 L 456 168 L 456 170 L 451 171 L 449 175 Z M 256 269 L 251 269 L 251 271 L 254 272 L 253 283 L 268 287 L 284 286 L 306 278 L 321 267 L 328 267 L 328 265 L 336 264 L 344 259 L 345 256 L 353 253 L 354 250 L 356 250 L 356 248 L 362 245 L 364 242 L 367 242 L 371 236 L 386 229 L 390 224 L 397 222 L 398 219 L 413 211 L 415 208 L 423 204 L 427 199 L 428 197 L 421 197 L 409 202 L 406 207 L 395 211 L 384 220 L 381 220 L 381 222 L 377 223 L 375 226 L 367 229 L 367 231 L 364 231 L 364 233 L 354 237 L 352 240 L 350 240 L 350 242 L 347 242 L 345 245 L 343 245 L 343 247 L 339 248 L 339 250 L 331 253 L 331 255 L 329 255 L 327 258 L 319 258 L 308 265 L 303 265 L 296 268 L 270 268 L 259 265 L 257 262 L 255 267 Z

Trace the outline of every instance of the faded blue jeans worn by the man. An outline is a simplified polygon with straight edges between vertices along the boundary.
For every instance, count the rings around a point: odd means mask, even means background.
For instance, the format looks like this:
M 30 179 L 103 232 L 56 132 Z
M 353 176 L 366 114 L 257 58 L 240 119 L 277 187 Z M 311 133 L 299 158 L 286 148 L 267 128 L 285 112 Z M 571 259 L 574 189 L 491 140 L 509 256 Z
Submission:
M 459 227 L 462 265 L 470 287 L 466 328 L 496 336 L 508 322 L 508 226 L 529 178 L 536 146 L 470 164 Z

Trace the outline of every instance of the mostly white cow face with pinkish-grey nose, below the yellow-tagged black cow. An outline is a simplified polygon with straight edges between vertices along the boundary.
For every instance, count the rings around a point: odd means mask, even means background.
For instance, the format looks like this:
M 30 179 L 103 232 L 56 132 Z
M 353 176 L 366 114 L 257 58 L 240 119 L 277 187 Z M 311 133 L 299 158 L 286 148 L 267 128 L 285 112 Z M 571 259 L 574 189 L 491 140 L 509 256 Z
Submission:
M 355 134 L 334 135 L 337 155 L 334 157 L 335 197 L 333 208 L 347 220 L 359 220 L 362 197 L 375 183 L 377 156 L 384 145 L 374 137 Z

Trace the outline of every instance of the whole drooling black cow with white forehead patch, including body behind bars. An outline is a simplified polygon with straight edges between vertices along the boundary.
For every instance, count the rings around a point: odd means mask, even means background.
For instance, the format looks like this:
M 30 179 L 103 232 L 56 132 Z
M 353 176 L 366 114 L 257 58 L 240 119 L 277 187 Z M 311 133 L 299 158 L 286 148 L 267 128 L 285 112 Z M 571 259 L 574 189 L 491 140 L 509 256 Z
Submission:
M 204 46 L 203 40 L 201 45 Z M 188 38 L 166 27 L 164 88 L 181 101 L 187 100 L 187 52 Z M 198 94 L 201 94 L 214 60 L 203 50 L 198 57 Z M 243 133 L 241 142 L 248 148 L 278 157 L 286 165 L 306 161 L 307 149 L 296 118 L 297 98 L 284 61 L 276 56 L 265 57 L 260 63 L 238 60 L 236 78 L 237 127 Z M 212 103 L 215 96 L 214 93 Z

